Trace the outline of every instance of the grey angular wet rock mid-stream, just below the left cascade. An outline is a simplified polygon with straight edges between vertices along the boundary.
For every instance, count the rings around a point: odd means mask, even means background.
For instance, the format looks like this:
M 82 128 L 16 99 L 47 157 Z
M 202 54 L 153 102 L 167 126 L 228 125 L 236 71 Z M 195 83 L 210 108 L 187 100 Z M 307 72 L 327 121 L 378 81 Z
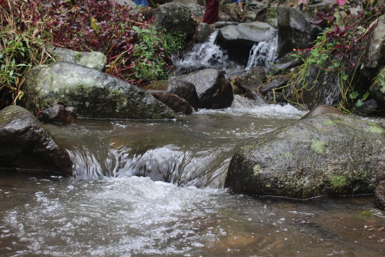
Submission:
M 234 100 L 233 87 L 224 77 L 223 71 L 204 69 L 177 77 L 195 85 L 199 97 L 199 108 L 221 109 L 231 106 Z

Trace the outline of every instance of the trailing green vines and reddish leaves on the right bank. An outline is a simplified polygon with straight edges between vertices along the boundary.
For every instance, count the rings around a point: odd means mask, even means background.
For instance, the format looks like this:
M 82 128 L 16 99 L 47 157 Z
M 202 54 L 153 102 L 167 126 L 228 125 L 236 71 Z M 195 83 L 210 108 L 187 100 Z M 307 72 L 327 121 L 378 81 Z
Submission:
M 344 6 L 336 6 L 328 13 L 315 15 L 311 22 L 325 30 L 312 47 L 294 49 L 296 54 L 293 56 L 301 58 L 304 64 L 285 86 L 291 87 L 292 98 L 288 101 L 300 103 L 304 91 L 319 85 L 320 74 L 334 73 L 331 76 L 336 77 L 334 81 L 340 88 L 338 108 L 346 113 L 360 108 L 368 99 L 370 85 L 362 86 L 359 68 L 363 63 L 370 31 L 384 13 L 384 5 L 378 1 L 373 5 L 367 3 L 357 14 L 350 13 Z

